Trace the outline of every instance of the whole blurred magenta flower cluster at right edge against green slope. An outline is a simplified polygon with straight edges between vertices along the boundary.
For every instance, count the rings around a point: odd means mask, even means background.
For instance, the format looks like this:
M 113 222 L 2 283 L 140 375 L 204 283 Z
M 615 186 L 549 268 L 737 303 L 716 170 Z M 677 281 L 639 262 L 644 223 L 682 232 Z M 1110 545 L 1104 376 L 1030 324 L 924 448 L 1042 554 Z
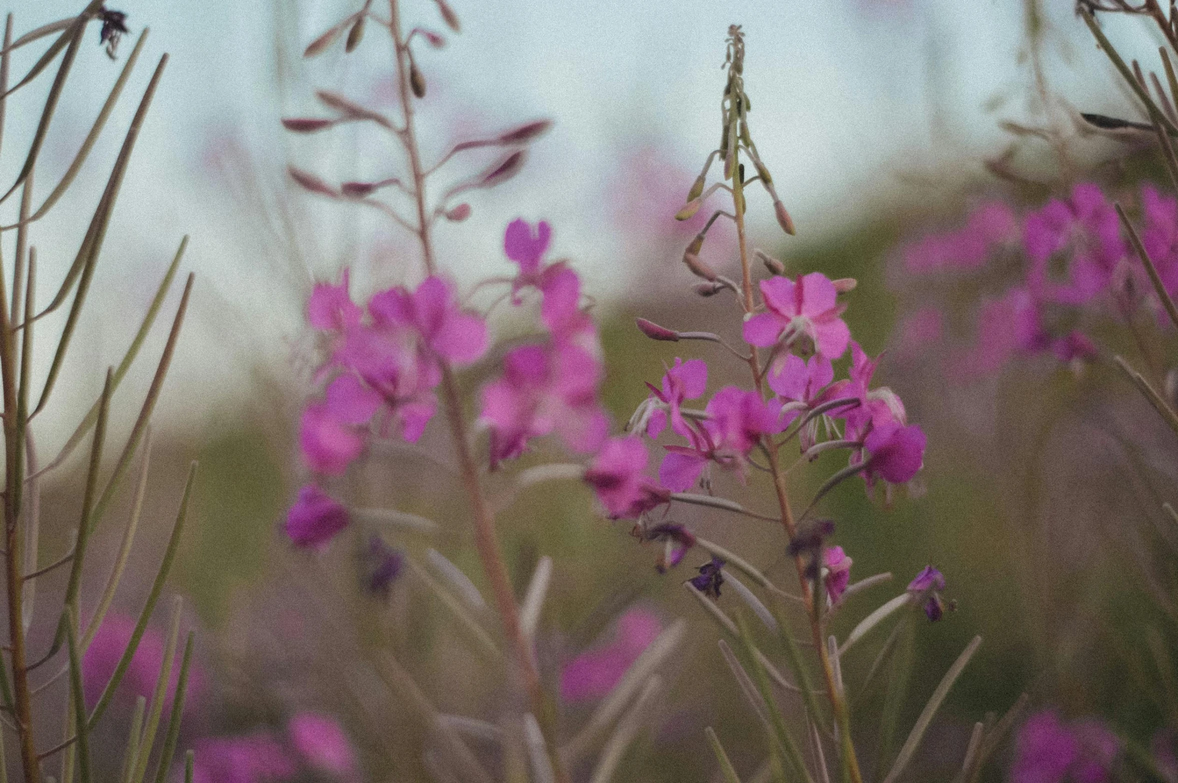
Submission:
M 1145 185 L 1140 213 L 1141 244 L 1163 286 L 1178 294 L 1178 200 Z M 929 234 L 902 256 L 912 276 L 965 276 L 984 286 L 993 270 L 1007 268 L 1014 259 L 1017 279 L 984 294 L 978 308 L 974 344 L 961 361 L 974 374 L 994 372 L 1017 354 L 1050 353 L 1063 364 L 1091 361 L 1099 354 L 1087 325 L 1094 314 L 1129 319 L 1143 305 L 1162 314 L 1111 200 L 1092 183 L 1080 183 L 1068 198 L 1051 199 L 1021 215 L 1002 203 L 985 203 L 962 228 Z M 926 343 L 939 340 L 942 329 L 941 312 L 922 307 L 901 333 Z

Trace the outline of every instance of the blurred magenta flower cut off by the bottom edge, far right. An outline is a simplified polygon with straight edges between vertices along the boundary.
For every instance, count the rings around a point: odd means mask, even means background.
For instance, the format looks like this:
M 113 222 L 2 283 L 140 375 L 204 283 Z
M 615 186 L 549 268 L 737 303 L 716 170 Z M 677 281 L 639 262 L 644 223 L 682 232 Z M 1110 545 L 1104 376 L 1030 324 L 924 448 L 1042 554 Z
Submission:
M 1037 712 L 1019 729 L 1011 783 L 1104 783 L 1119 742 L 1097 719 L 1065 725 L 1054 710 Z

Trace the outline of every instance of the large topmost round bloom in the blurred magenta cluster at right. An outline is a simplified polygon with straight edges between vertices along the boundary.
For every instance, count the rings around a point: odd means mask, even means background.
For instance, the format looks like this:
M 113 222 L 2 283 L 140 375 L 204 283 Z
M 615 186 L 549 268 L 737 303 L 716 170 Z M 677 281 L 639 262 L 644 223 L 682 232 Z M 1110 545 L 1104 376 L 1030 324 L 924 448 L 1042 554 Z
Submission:
M 1072 188 L 1068 200 L 1052 199 L 1026 217 L 1023 241 L 1031 267 L 1027 285 L 1035 299 L 1080 305 L 1103 291 L 1126 256 L 1120 220 L 1091 183 Z M 1052 261 L 1066 264 L 1054 274 Z

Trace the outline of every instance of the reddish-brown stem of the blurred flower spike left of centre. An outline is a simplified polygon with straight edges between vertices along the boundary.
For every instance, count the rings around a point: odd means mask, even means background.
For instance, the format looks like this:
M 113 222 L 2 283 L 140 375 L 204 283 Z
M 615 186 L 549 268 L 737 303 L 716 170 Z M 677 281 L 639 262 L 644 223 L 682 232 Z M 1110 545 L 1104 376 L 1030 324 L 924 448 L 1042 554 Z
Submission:
M 434 257 L 434 244 L 430 239 L 430 221 L 426 217 L 429 210 L 425 197 L 425 171 L 422 167 L 421 151 L 417 146 L 417 135 L 413 126 L 412 101 L 415 99 L 410 93 L 409 69 L 405 66 L 409 52 L 401 31 L 398 0 L 389 0 L 389 32 L 392 35 L 392 44 L 396 49 L 397 86 L 404 114 L 403 130 L 399 135 L 409 157 L 409 166 L 413 175 L 413 201 L 417 206 L 417 238 L 422 245 L 422 260 L 425 265 L 425 272 L 426 274 L 434 274 L 437 266 Z M 441 364 L 442 400 L 450 425 L 450 433 L 454 437 L 455 451 L 458 454 L 462 482 L 470 499 L 471 516 L 475 523 L 475 548 L 478 551 L 487 579 L 490 582 L 491 592 L 495 595 L 495 606 L 503 623 L 504 635 L 515 651 L 524 690 L 531 702 L 531 712 L 536 716 L 541 725 L 547 729 L 544 731 L 544 742 L 552 762 L 554 771 L 556 772 L 557 783 L 569 783 L 568 772 L 561 763 L 552 738 L 552 721 L 548 703 L 544 699 L 540 672 L 536 670 L 531 646 L 523 631 L 523 624 L 519 622 L 519 609 L 516 605 L 515 593 L 511 589 L 511 578 L 508 573 L 507 563 L 503 559 L 503 552 L 499 550 L 498 537 L 495 533 L 495 517 L 487 497 L 483 495 L 478 463 L 475 460 L 475 454 L 471 451 L 466 422 L 463 418 L 458 385 L 455 381 L 454 371 L 450 369 L 450 365 L 445 361 Z

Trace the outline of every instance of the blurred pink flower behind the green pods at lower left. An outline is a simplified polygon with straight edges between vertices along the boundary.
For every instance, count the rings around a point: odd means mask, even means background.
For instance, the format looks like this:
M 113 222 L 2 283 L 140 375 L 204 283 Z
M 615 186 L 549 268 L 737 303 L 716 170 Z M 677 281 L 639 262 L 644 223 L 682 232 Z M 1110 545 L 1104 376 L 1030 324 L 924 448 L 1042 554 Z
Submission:
M 131 642 L 134 633 L 135 618 L 108 611 L 102 617 L 102 624 L 94 633 L 90 646 L 81 659 L 82 694 L 86 696 L 86 705 L 93 708 L 119 665 L 123 652 Z M 148 626 L 139 639 L 139 646 L 131 658 L 119 685 L 119 694 L 124 696 L 143 696 L 151 699 L 155 691 L 155 683 L 159 681 L 160 668 L 164 665 L 164 636 L 154 628 Z M 168 681 L 165 705 L 170 708 L 172 697 L 176 695 L 176 686 L 180 681 L 180 652 L 172 662 L 172 675 Z M 199 703 L 204 692 L 205 675 L 197 662 L 188 666 L 188 682 L 185 686 L 184 709 L 191 711 Z

